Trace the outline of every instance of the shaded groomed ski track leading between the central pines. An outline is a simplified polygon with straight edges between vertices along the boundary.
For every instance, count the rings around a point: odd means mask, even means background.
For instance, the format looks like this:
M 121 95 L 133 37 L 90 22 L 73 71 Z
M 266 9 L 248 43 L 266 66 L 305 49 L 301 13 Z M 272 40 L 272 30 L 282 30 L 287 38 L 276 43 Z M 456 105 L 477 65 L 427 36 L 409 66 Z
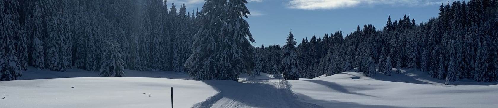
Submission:
M 215 83 L 223 82 L 226 81 Z M 258 81 L 217 86 L 215 88 L 220 93 L 192 108 L 323 108 L 298 101 L 290 87 L 290 83 L 286 81 Z

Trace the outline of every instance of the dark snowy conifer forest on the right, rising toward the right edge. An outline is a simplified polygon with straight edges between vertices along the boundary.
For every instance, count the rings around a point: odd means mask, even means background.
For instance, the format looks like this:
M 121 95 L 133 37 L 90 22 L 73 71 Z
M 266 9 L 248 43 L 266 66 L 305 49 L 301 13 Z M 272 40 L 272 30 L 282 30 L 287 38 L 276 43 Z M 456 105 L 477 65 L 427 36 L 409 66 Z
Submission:
M 393 21 L 389 16 L 382 29 L 366 24 L 345 38 L 342 31 L 303 38 L 296 50 L 300 78 L 352 69 L 369 77 L 376 73 L 391 76 L 405 68 L 440 80 L 498 81 L 497 5 L 497 0 L 447 2 L 441 4 L 439 16 L 427 22 L 417 24 L 406 15 Z M 273 54 L 282 50 L 274 47 L 256 48 L 260 64 L 281 60 Z M 272 70 L 280 67 L 261 68 L 261 72 L 275 73 Z

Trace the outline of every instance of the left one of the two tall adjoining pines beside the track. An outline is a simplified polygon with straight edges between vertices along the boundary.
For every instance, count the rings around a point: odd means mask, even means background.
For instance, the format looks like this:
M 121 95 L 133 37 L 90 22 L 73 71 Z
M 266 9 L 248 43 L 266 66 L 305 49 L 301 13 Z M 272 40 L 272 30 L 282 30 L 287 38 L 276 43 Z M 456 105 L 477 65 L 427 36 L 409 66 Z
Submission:
M 189 76 L 195 80 L 212 80 L 218 73 L 215 53 L 223 26 L 218 15 L 224 12 L 223 6 L 226 3 L 226 0 L 207 0 L 200 12 L 200 29 L 194 35 L 192 55 L 185 62 L 185 67 L 189 69 Z M 172 16 L 171 10 L 169 14 Z

